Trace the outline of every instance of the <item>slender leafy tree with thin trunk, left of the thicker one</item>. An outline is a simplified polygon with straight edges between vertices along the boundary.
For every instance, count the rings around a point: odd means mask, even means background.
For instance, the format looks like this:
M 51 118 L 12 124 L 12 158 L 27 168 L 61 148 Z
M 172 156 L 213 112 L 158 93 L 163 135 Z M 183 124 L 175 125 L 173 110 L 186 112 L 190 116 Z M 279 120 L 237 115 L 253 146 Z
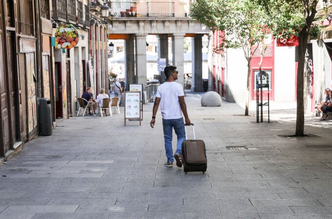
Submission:
M 243 49 L 248 66 L 245 115 L 249 115 L 250 61 L 268 30 L 264 24 L 269 23 L 264 8 L 254 0 L 195 0 L 190 16 L 212 30 L 224 31 L 217 51 Z

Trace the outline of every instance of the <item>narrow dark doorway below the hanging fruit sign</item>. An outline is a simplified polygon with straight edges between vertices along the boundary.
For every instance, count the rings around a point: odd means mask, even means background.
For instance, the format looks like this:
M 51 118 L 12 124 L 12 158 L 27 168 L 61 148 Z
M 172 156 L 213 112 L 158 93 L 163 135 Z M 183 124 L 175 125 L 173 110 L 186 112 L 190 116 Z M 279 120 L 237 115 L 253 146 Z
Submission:
M 55 62 L 55 117 L 57 119 L 62 118 L 62 71 L 61 62 Z

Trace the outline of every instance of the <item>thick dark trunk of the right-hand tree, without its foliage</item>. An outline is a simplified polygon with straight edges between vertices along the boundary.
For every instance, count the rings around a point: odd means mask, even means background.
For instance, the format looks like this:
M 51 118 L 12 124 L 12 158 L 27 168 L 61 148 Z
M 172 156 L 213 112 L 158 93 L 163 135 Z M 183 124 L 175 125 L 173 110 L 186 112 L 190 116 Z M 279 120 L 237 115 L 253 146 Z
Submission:
M 296 86 L 296 130 L 295 136 L 304 136 L 304 63 L 307 49 L 308 32 L 301 31 L 299 34 L 299 62 L 297 67 Z

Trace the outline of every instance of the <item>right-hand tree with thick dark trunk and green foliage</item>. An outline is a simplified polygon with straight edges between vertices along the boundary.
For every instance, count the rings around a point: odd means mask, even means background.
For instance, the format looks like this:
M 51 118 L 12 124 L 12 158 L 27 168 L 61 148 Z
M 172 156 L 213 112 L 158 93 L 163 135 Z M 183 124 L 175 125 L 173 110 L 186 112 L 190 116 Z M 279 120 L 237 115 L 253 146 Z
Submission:
M 304 72 L 308 37 L 315 37 L 321 25 L 313 23 L 317 0 L 258 0 L 270 17 L 276 18 L 270 27 L 275 37 L 299 38 L 296 87 L 295 136 L 304 136 Z M 323 0 L 327 2 L 327 0 Z M 312 25 L 314 24 L 314 25 Z

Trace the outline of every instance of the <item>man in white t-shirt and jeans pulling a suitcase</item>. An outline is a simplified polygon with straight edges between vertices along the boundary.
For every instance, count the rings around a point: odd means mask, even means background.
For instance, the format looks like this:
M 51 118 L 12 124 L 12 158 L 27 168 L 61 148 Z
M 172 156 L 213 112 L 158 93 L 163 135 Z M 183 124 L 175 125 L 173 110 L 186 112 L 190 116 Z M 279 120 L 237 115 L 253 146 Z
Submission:
M 156 93 L 156 100 L 154 101 L 152 120 L 150 122 L 151 128 L 154 128 L 156 122 L 156 113 L 158 111 L 159 103 L 161 103 L 161 112 L 163 117 L 163 129 L 165 139 L 165 150 L 167 162 L 165 166 L 172 167 L 174 159 L 178 167 L 182 166 L 181 149 L 182 143 L 186 139 L 185 124 L 182 113 L 185 116 L 186 126 L 190 126 L 190 120 L 187 113 L 187 105 L 185 102 L 185 93 L 181 84 L 176 83 L 178 79 L 178 72 L 175 66 L 167 66 L 164 69 L 166 75 L 166 82 L 158 87 Z M 173 156 L 172 149 L 172 132 L 173 128 L 177 135 L 178 141 L 176 151 Z

